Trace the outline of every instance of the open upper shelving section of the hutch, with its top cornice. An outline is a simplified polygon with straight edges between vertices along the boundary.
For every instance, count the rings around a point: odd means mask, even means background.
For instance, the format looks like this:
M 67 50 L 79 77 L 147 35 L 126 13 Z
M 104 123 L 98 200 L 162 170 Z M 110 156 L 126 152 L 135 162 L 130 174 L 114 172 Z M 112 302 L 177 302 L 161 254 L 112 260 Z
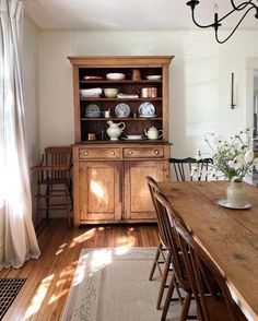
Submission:
M 75 142 L 87 142 L 94 133 L 97 141 L 109 142 L 106 134 L 107 121 L 125 122 L 124 134 L 144 134 L 144 129 L 154 126 L 163 131 L 160 141 L 168 141 L 168 56 L 113 56 L 113 57 L 69 57 L 73 66 L 74 136 Z M 138 78 L 133 76 L 138 72 Z M 108 80 L 108 73 L 124 73 L 124 80 Z M 150 75 L 160 75 L 150 80 Z M 101 90 L 101 95 L 83 96 L 82 91 Z M 121 96 L 106 97 L 105 88 L 115 88 Z M 142 96 L 144 88 L 155 88 L 155 96 Z M 125 96 L 126 95 L 126 96 Z M 129 96 L 129 97 L 128 97 Z M 142 106 L 154 109 L 153 117 L 140 115 Z M 128 108 L 127 117 L 118 117 L 117 109 Z M 97 108 L 97 117 L 87 114 L 89 108 Z M 110 118 L 104 118 L 105 110 Z

